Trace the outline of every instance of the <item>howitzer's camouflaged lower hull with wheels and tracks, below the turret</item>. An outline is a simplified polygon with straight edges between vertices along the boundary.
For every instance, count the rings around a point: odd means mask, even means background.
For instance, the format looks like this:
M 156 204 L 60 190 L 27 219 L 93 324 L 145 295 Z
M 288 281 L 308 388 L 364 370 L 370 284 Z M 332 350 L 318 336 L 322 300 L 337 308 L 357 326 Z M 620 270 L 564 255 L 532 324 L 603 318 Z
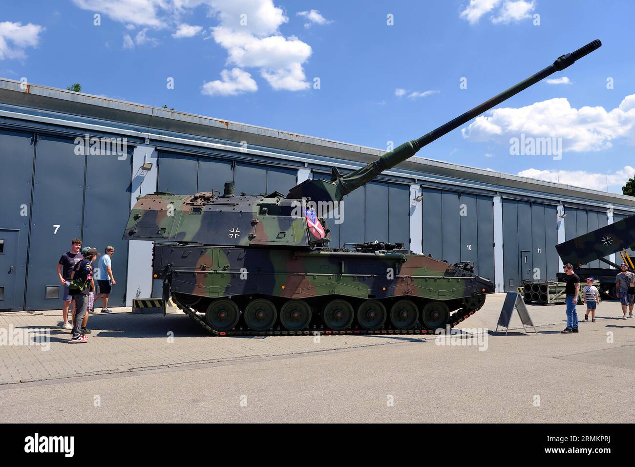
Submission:
M 469 264 L 360 250 L 156 243 L 153 269 L 214 334 L 425 334 L 463 321 L 494 292 Z

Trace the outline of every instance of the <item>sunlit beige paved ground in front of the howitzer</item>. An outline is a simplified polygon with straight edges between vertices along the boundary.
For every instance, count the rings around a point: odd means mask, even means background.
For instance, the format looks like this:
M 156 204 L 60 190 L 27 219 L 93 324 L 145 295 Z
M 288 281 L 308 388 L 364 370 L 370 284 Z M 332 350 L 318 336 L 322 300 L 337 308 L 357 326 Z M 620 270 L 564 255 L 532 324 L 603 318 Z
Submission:
M 503 297 L 488 297 L 462 327 L 495 328 Z M 0 419 L 634 422 L 635 319 L 615 320 L 618 304 L 605 302 L 597 323 L 562 335 L 563 306 L 530 313 L 538 335 L 480 334 L 480 347 L 410 336 L 215 338 L 185 315 L 93 315 L 88 344 L 67 344 L 68 332 L 53 328 L 48 351 L 0 346 Z M 0 328 L 57 319 L 3 313 Z

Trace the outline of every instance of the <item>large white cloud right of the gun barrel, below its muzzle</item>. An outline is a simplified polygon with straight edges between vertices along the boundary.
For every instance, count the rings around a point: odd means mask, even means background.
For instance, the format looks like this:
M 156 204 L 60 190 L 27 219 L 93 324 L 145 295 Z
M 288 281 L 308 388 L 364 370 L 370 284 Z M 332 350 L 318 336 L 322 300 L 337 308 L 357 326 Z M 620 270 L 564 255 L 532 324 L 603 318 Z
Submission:
M 601 151 L 612 140 L 626 138 L 635 144 L 635 94 L 626 96 L 610 111 L 604 107 L 571 107 L 559 97 L 518 109 L 506 107 L 479 116 L 461 132 L 470 141 L 495 140 L 509 144 L 512 137 L 562 138 L 564 151 Z

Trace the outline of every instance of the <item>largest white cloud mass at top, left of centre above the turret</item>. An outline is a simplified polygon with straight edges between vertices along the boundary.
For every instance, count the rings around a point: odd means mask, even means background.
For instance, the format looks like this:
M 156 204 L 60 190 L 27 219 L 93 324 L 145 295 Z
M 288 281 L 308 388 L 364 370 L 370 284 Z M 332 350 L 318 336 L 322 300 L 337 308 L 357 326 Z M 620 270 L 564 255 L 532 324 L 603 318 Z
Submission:
M 172 36 L 175 38 L 192 37 L 203 32 L 200 26 L 189 25 L 183 18 L 191 15 L 195 8 L 206 7 L 209 15 L 218 20 L 218 25 L 210 32 L 216 43 L 227 50 L 227 65 L 258 68 L 260 76 L 276 90 L 297 91 L 310 87 L 303 65 L 311 56 L 311 46 L 297 37 L 283 36 L 279 27 L 289 18 L 282 8 L 274 5 L 273 0 L 72 1 L 79 8 L 99 11 L 123 23 L 128 30 L 142 27 L 133 41 L 137 46 L 159 44 L 158 39 L 148 36 L 149 28 L 169 27 L 174 30 Z M 307 19 L 317 24 L 328 21 L 317 10 L 309 11 Z M 203 35 L 206 36 L 206 33 Z M 132 39 L 128 38 L 124 36 L 124 48 L 133 48 Z

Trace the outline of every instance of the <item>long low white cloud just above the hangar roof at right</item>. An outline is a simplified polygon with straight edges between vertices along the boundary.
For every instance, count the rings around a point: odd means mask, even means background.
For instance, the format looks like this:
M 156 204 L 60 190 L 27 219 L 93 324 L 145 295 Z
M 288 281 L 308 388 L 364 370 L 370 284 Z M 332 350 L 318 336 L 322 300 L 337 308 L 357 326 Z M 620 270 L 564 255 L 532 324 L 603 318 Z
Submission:
M 610 173 L 585 172 L 584 170 L 538 170 L 528 168 L 518 172 L 519 177 L 544 180 L 545 182 L 563 183 L 566 185 L 579 186 L 593 190 L 606 191 L 611 187 L 622 187 L 626 180 L 635 175 L 635 168 L 625 166 Z

